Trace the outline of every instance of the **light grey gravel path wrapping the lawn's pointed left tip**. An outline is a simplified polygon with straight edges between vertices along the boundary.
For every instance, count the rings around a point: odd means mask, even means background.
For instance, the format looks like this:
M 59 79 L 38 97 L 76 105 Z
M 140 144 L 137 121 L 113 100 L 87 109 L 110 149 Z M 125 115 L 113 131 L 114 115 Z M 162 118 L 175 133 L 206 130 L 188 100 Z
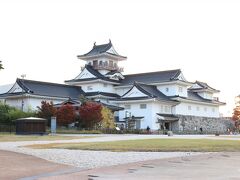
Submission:
M 57 140 L 57 141 L 24 141 L 24 142 L 2 142 L 1 150 L 13 151 L 28 155 L 33 155 L 48 161 L 72 165 L 82 169 L 91 169 L 96 167 L 112 166 L 139 162 L 153 159 L 163 159 L 171 157 L 185 157 L 190 155 L 199 155 L 202 153 L 187 152 L 109 152 L 109 151 L 83 151 L 67 149 L 30 149 L 22 146 L 31 144 L 47 143 L 73 143 L 73 142 L 103 142 L 130 139 L 149 139 L 165 138 L 159 135 L 107 135 L 95 138 L 74 139 L 74 140 Z

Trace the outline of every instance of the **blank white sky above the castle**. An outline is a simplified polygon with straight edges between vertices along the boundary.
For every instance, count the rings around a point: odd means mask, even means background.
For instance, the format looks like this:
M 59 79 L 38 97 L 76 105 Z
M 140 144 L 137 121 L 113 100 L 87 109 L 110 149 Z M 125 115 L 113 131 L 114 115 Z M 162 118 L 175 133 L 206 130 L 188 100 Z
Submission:
M 181 3 L 179 3 L 181 2 Z M 240 94 L 237 1 L 0 1 L 0 85 L 26 79 L 63 83 L 84 65 L 77 55 L 109 39 L 125 74 L 182 69 L 188 81 L 221 90 L 231 114 Z

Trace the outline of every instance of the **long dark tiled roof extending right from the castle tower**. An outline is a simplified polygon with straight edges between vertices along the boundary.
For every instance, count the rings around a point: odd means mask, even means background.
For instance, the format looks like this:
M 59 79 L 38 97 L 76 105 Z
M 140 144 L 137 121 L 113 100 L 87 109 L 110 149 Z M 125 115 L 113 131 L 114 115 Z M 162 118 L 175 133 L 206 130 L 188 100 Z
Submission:
M 131 85 L 134 83 L 134 81 L 148 84 L 173 81 L 176 80 L 180 73 L 181 73 L 180 69 L 175 69 L 169 71 L 124 75 L 125 79 L 120 81 L 121 83 L 120 86 Z

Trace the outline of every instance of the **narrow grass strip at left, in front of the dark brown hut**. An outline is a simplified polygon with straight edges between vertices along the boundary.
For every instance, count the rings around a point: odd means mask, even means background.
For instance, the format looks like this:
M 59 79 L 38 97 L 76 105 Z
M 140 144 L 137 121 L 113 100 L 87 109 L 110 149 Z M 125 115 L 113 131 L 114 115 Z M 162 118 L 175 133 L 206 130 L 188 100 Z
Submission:
M 51 136 L 51 135 L 14 135 L 14 134 L 0 134 L 0 142 L 15 142 L 15 141 L 54 141 L 54 140 L 71 140 L 92 138 L 87 136 Z

